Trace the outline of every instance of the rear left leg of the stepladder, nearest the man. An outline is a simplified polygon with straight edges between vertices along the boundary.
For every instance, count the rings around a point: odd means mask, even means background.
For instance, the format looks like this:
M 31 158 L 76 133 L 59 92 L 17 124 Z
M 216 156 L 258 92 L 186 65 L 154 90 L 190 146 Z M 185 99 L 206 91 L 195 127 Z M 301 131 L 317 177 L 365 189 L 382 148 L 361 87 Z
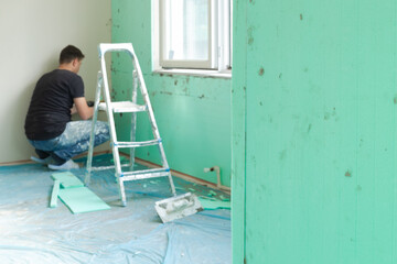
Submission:
M 93 154 L 94 154 L 94 139 L 95 139 L 95 125 L 98 117 L 98 106 L 100 100 L 100 89 L 103 86 L 103 78 L 100 70 L 97 74 L 97 87 L 95 91 L 95 103 L 94 103 L 94 114 L 92 120 L 92 131 L 89 136 L 89 146 L 88 146 L 88 157 L 87 157 L 87 169 L 84 183 L 85 185 L 89 185 L 90 182 L 90 174 L 92 174 L 92 167 L 93 167 Z

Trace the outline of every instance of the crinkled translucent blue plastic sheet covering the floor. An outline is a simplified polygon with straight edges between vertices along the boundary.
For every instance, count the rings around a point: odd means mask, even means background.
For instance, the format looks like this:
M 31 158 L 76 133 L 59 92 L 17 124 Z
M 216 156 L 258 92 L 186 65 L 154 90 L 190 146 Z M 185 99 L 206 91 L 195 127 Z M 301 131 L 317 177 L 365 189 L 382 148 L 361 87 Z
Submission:
M 97 156 L 104 165 L 110 155 Z M 72 170 L 81 179 L 84 168 Z M 111 209 L 73 215 L 50 208 L 50 170 L 40 164 L 0 166 L 0 263 L 232 263 L 230 211 L 204 210 L 162 223 L 157 200 L 170 196 L 167 178 L 126 183 L 121 207 L 114 170 L 97 172 L 89 188 Z M 179 194 L 208 188 L 175 178 Z M 223 195 L 221 193 L 212 194 Z

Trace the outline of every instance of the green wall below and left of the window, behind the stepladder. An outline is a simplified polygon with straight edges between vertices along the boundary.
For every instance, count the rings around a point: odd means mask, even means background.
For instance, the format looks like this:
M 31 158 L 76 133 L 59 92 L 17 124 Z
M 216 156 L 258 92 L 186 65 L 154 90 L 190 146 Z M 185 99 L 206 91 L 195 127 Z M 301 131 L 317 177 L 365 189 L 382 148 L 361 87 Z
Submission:
M 232 121 L 230 79 L 169 76 L 152 73 L 151 1 L 111 2 L 112 42 L 131 42 L 142 68 L 154 116 L 172 169 L 216 183 L 215 173 L 204 167 L 219 166 L 222 184 L 230 186 Z M 122 54 L 112 56 L 112 97 L 130 96 L 131 65 Z M 128 140 L 130 116 L 116 117 L 119 139 Z M 138 114 L 137 140 L 152 139 L 146 113 Z M 157 147 L 138 148 L 137 156 L 159 164 Z

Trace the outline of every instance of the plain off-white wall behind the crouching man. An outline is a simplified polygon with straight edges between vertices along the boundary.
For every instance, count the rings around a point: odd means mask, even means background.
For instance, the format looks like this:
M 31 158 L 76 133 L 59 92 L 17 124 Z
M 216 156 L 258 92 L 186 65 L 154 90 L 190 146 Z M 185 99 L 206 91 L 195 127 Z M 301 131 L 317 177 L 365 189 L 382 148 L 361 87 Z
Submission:
M 37 78 L 73 44 L 86 55 L 79 75 L 94 99 L 97 45 L 110 42 L 111 0 L 0 0 L 0 163 L 28 160 L 24 118 Z

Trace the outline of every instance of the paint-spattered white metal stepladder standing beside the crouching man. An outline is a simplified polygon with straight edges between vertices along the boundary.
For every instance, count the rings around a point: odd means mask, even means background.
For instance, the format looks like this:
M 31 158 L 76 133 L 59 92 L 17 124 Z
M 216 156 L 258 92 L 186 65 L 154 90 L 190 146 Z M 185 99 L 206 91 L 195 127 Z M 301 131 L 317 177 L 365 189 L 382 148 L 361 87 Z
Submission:
M 115 170 L 116 170 L 116 178 L 118 180 L 118 185 L 120 188 L 120 198 L 122 206 L 127 205 L 126 200 L 126 193 L 124 187 L 124 182 L 127 180 L 136 180 L 136 179 L 146 179 L 146 178 L 153 178 L 153 177 L 169 177 L 169 182 L 171 185 L 172 195 L 175 196 L 175 187 L 171 177 L 171 172 L 169 164 L 165 158 L 164 148 L 162 145 L 162 141 L 160 138 L 159 129 L 155 123 L 153 110 L 149 100 L 148 90 L 142 77 L 142 72 L 140 69 L 138 58 L 133 52 L 132 44 L 130 43 L 120 43 L 120 44 L 99 44 L 99 59 L 100 59 L 100 70 L 98 73 L 98 81 L 96 88 L 96 96 L 95 96 L 95 103 L 94 103 L 94 117 L 93 117 L 93 128 L 92 128 L 92 136 L 89 142 L 88 148 L 88 160 L 87 160 L 87 172 L 85 176 L 85 184 L 88 185 L 90 182 L 90 174 L 93 170 L 99 169 L 107 169 L 109 167 L 92 167 L 93 161 L 93 151 L 94 151 L 94 131 L 97 121 L 97 113 L 99 109 L 105 109 L 109 122 L 109 130 L 110 130 L 110 145 L 114 155 L 115 162 Z M 109 84 L 106 70 L 106 62 L 105 62 L 105 54 L 107 52 L 127 52 L 132 58 L 132 96 L 128 101 L 111 101 L 110 91 L 109 91 Z M 138 99 L 138 87 L 140 88 L 140 92 L 143 98 L 144 105 L 140 106 L 137 105 Z M 105 102 L 100 102 L 100 94 L 103 91 Z M 142 141 L 136 142 L 135 141 L 135 132 L 136 132 L 136 120 L 137 120 L 137 112 L 147 111 L 149 116 L 149 120 L 151 123 L 152 132 L 154 139 L 151 141 Z M 114 113 L 132 113 L 131 118 L 131 141 L 130 142 L 120 142 L 117 140 L 116 128 L 115 128 L 115 119 Z M 133 163 L 135 163 L 135 147 L 141 146 L 150 146 L 150 145 L 158 145 L 161 156 L 161 168 L 151 168 L 144 170 L 132 170 Z M 130 164 L 131 168 L 130 172 L 124 172 L 121 169 L 120 156 L 119 156 L 119 148 L 130 148 Z

